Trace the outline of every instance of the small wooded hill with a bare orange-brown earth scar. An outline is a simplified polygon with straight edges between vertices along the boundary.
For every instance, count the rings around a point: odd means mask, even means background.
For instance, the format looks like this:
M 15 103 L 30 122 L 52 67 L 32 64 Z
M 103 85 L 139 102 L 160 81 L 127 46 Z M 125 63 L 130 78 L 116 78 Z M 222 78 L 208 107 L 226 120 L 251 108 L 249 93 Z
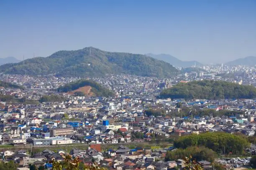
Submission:
M 91 93 L 95 96 L 109 97 L 109 96 L 114 95 L 114 93 L 111 90 L 109 90 L 105 87 L 102 87 L 102 85 L 100 85 L 97 82 L 92 81 L 92 80 L 78 80 L 75 82 L 70 82 L 64 86 L 59 87 L 57 91 L 58 92 L 71 92 L 71 91 L 76 90 L 74 93 L 76 93 L 77 95 L 88 95 L 88 94 L 85 94 L 84 91 L 78 90 L 81 87 L 85 87 L 85 86 L 90 86 L 91 89 L 90 89 L 90 92 L 88 92 L 88 93 Z M 84 94 L 82 94 L 82 93 L 84 93 Z

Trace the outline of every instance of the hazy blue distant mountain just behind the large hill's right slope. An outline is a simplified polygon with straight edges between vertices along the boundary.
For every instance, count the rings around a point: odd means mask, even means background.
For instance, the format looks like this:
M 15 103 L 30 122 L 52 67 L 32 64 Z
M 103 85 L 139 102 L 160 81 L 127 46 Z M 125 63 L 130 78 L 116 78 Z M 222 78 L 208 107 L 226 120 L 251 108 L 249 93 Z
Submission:
M 203 66 L 203 64 L 201 64 L 200 62 L 197 61 L 182 61 L 177 59 L 176 57 L 172 56 L 172 55 L 168 55 L 168 54 L 152 54 L 152 53 L 148 53 L 145 54 L 147 56 L 153 57 L 157 60 L 162 60 L 165 62 L 170 63 L 171 65 L 175 66 L 175 67 L 191 67 L 194 66 L 195 64 L 197 66 Z

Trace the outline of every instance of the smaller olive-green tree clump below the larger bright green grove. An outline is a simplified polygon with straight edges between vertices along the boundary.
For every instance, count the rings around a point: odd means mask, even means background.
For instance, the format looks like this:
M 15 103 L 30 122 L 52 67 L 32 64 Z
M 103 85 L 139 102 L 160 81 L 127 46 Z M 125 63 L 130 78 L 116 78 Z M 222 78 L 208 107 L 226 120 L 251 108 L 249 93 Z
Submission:
M 214 159 L 218 157 L 217 154 L 209 148 L 205 148 L 203 146 L 191 146 L 185 149 L 168 151 L 166 153 L 166 160 L 178 160 L 180 158 L 189 157 L 190 155 L 193 160 L 207 160 L 209 162 L 213 162 Z

